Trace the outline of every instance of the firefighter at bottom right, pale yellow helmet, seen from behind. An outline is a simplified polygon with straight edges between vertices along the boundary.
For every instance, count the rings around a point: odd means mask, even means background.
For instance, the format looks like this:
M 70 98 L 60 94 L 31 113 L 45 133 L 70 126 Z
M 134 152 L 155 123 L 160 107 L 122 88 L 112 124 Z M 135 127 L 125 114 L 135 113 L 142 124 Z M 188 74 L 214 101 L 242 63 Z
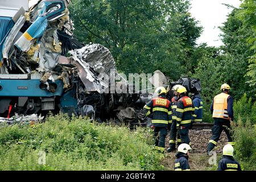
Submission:
M 240 164 L 233 157 L 234 148 L 231 144 L 223 147 L 223 156 L 218 162 L 218 171 L 242 171 Z

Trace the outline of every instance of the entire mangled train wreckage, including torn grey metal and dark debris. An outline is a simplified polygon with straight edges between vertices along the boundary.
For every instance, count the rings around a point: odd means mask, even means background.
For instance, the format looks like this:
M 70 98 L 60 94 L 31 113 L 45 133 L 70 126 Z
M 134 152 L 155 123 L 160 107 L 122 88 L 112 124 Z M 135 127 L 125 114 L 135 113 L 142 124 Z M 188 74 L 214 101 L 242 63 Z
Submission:
M 118 75 L 115 61 L 104 46 L 73 38 L 69 3 L 43 0 L 28 8 L 27 0 L 1 1 L 0 122 L 40 121 L 37 114 L 62 111 L 100 122 L 142 123 L 143 105 L 152 94 L 101 92 L 109 86 L 104 75 Z M 129 89 L 122 77 L 118 84 Z

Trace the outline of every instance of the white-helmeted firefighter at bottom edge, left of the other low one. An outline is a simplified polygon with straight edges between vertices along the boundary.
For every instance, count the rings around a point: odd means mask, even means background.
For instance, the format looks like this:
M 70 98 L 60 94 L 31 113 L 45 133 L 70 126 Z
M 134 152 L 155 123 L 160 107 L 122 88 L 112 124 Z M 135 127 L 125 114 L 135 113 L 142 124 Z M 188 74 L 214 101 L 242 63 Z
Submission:
M 191 151 L 191 147 L 187 143 L 179 145 L 175 155 L 174 171 L 191 171 L 188 163 L 189 151 Z

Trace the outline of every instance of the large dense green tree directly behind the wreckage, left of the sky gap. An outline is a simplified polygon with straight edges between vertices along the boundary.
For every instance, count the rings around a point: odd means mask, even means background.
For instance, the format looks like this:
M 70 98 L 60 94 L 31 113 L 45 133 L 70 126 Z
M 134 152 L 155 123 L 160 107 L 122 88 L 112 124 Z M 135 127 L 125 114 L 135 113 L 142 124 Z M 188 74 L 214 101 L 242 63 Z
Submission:
M 186 0 L 75 0 L 71 17 L 76 37 L 108 47 L 119 71 L 160 69 L 175 80 L 191 68 L 188 57 L 201 32 L 189 6 Z

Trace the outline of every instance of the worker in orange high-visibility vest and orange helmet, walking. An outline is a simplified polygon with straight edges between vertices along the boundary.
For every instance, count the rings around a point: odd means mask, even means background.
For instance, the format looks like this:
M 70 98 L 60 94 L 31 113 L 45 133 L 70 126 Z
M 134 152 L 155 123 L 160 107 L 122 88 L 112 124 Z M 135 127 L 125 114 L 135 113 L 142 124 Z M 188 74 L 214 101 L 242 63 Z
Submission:
M 232 130 L 230 122 L 233 122 L 233 98 L 228 94 L 230 86 L 228 84 L 221 85 L 221 93 L 214 97 L 210 110 L 214 119 L 212 127 L 212 137 L 209 140 L 207 154 L 217 146 L 222 130 L 228 136 L 228 143 L 234 145 L 232 139 Z

